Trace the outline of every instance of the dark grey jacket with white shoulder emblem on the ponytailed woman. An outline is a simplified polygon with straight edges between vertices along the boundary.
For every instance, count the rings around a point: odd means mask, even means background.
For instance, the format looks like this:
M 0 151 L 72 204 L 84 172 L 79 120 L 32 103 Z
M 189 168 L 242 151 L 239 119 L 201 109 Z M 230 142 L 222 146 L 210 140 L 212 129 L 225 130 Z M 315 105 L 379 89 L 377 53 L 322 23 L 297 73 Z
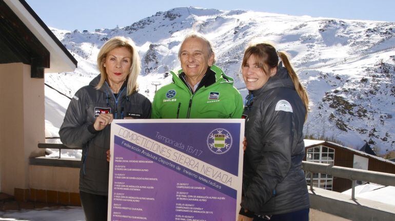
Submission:
M 306 109 L 282 63 L 246 106 L 242 207 L 255 214 L 309 208 L 302 170 Z

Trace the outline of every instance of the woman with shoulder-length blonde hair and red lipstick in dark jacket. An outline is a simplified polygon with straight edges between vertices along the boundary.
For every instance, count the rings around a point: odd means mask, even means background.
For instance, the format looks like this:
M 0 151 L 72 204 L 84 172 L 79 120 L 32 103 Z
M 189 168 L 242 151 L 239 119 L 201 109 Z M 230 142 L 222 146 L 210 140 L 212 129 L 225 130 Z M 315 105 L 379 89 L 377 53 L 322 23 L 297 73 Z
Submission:
M 100 75 L 73 96 L 59 131 L 68 147 L 82 147 L 80 197 L 87 221 L 107 220 L 110 123 L 150 118 L 151 103 L 137 93 L 141 61 L 125 37 L 108 40 L 97 56 Z

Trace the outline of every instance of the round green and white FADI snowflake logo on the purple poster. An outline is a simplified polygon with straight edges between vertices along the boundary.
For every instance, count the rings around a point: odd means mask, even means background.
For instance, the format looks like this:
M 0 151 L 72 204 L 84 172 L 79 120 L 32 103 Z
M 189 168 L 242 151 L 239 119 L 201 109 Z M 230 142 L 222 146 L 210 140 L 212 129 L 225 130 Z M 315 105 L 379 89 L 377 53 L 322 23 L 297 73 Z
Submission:
M 226 153 L 232 147 L 232 136 L 226 129 L 214 129 L 207 137 L 207 146 L 215 154 Z

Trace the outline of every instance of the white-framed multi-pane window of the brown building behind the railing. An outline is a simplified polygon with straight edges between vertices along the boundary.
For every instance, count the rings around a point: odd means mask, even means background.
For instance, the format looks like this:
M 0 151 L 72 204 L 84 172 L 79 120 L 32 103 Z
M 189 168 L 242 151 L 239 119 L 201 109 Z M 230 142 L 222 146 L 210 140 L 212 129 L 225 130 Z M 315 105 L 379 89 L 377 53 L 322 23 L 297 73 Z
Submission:
M 317 146 L 307 149 L 306 161 L 315 163 L 326 163 L 333 165 L 334 162 L 334 149 L 326 146 Z M 307 184 L 310 185 L 310 172 L 306 173 Z M 324 173 L 313 174 L 313 186 L 332 190 L 333 176 Z

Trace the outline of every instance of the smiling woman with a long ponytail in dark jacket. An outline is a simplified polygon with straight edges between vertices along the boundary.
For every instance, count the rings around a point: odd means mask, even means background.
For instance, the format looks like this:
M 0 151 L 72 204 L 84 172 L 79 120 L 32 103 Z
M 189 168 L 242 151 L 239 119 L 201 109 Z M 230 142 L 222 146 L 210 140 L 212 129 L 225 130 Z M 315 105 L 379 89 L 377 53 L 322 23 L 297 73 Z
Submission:
M 247 148 L 238 220 L 307 221 L 310 206 L 302 170 L 306 90 L 288 56 L 269 43 L 246 49 L 242 74 L 249 95 L 243 113 Z

